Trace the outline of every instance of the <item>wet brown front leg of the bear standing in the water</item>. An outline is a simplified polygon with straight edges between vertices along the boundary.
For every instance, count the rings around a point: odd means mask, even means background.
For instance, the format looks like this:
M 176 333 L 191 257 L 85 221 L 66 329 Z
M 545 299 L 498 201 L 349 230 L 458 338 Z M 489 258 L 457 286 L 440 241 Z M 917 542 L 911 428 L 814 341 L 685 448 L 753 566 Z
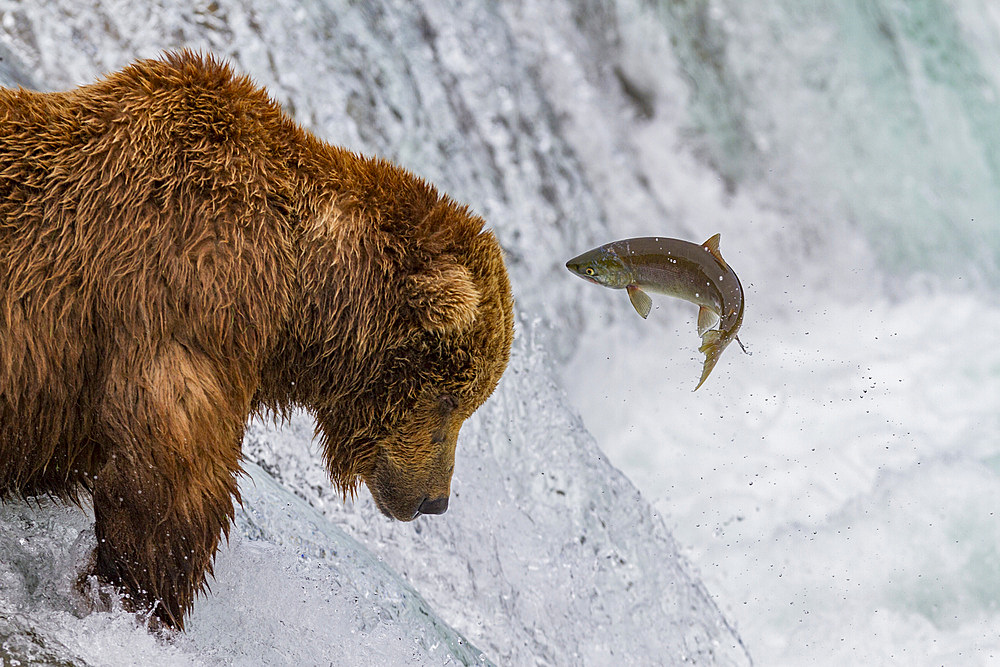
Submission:
M 216 377 L 176 346 L 123 382 L 106 412 L 124 416 L 109 419 L 111 452 L 94 482 L 98 580 L 179 629 L 239 500 L 248 400 Z

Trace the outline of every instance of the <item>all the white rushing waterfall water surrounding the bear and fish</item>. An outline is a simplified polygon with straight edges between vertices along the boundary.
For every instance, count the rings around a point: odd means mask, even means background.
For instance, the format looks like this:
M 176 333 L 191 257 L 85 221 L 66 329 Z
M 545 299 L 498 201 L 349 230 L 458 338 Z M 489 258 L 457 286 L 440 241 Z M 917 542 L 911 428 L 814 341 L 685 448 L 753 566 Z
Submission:
M 345 505 L 305 416 L 253 424 L 238 530 L 168 641 L 72 593 L 85 512 L 0 507 L 0 657 L 1000 659 L 990 0 L 138 5 L 0 0 L 3 83 L 225 56 L 324 139 L 483 213 L 518 339 L 443 517 Z M 642 321 L 563 263 L 716 232 L 752 355 L 692 392 L 694 307 L 654 297 Z

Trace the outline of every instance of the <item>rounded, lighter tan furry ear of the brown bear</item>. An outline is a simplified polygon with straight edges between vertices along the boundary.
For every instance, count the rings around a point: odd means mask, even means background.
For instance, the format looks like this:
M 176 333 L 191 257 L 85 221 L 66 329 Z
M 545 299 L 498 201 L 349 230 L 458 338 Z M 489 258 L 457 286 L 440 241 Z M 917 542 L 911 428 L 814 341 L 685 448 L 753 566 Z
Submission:
M 479 290 L 461 264 L 416 273 L 406 282 L 407 301 L 427 331 L 456 333 L 472 324 L 479 309 Z

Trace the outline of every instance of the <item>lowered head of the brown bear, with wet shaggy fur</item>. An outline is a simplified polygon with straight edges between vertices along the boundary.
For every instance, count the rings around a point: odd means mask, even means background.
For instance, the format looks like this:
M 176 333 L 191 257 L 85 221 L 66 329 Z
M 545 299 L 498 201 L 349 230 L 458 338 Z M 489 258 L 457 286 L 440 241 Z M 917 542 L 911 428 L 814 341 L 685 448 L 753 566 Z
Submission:
M 297 383 L 333 481 L 345 494 L 364 482 L 401 521 L 447 509 L 459 429 L 513 341 L 500 245 L 481 218 L 433 194 L 377 214 L 337 202 L 317 242 L 325 272 L 307 285 L 304 321 L 326 323 L 305 344 L 318 373 Z

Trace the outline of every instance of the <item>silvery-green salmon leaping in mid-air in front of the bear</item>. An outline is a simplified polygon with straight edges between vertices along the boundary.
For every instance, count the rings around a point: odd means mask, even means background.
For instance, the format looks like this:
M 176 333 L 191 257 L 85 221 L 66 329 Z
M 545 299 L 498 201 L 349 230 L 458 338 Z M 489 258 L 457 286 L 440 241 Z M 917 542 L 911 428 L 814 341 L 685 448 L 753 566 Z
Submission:
M 705 365 L 696 391 L 729 343 L 736 340 L 743 347 L 736 336 L 743 323 L 743 286 L 722 259 L 719 234 L 702 245 L 663 237 L 614 241 L 574 257 L 566 268 L 592 283 L 624 288 L 643 318 L 653 305 L 646 291 L 698 306 L 699 351 L 705 354 Z

